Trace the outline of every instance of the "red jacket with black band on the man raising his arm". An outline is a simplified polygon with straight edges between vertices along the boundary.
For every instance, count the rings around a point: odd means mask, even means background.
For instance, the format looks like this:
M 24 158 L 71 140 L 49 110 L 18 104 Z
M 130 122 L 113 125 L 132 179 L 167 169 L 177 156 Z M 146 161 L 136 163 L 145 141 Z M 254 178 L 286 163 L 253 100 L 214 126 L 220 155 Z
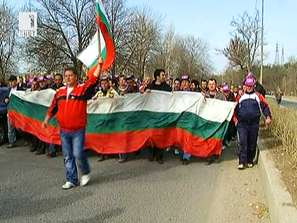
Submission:
M 67 86 L 55 94 L 47 116 L 56 115 L 60 128 L 64 131 L 84 129 L 87 125 L 87 100 L 92 98 L 97 77 L 90 75 L 85 84 L 77 84 L 67 98 Z

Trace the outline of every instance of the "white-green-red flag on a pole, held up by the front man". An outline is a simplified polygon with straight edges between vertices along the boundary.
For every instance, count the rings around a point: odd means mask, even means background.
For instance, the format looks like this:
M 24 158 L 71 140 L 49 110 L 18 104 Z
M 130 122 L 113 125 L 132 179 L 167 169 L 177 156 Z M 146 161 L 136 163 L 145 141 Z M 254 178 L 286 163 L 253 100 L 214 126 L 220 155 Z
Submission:
M 101 57 L 103 58 L 103 66 L 101 71 L 108 69 L 115 58 L 115 48 L 107 15 L 101 0 L 96 1 L 96 22 L 100 28 L 92 38 L 89 46 L 78 55 L 78 59 L 82 61 L 89 69 L 88 73 L 94 73 L 96 70 L 97 60 L 99 56 L 99 36 L 101 45 Z

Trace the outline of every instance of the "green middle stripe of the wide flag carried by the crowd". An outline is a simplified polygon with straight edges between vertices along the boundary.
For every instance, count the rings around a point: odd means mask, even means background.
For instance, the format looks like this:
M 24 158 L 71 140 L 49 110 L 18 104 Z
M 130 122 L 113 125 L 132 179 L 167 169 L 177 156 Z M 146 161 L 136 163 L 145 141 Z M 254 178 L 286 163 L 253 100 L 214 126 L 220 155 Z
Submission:
M 10 110 L 22 115 L 43 121 L 47 107 L 23 101 L 12 95 Z M 55 119 L 51 124 L 58 126 Z M 141 131 L 145 129 L 165 129 L 177 127 L 188 131 L 194 136 L 208 139 L 222 139 L 229 122 L 210 122 L 193 113 L 165 113 L 151 111 L 129 111 L 110 114 L 88 114 L 86 132 L 95 134 L 124 133 L 127 131 Z

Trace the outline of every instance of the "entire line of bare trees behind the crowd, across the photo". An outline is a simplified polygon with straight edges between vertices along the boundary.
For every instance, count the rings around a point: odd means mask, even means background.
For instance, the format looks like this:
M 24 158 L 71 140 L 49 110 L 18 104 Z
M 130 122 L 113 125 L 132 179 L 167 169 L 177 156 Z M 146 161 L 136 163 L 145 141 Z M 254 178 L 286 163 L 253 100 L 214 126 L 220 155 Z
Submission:
M 128 7 L 125 0 L 103 0 L 116 48 L 111 74 L 152 76 L 164 68 L 170 77 L 189 75 L 201 80 L 215 77 L 219 82 L 241 84 L 246 71 L 259 76 L 261 20 L 259 11 L 244 12 L 230 23 L 231 38 L 223 49 L 228 68 L 214 75 L 210 46 L 192 35 L 181 36 L 172 25 L 165 27 L 162 15 L 148 6 Z M 34 0 L 22 11 L 38 12 L 38 36 L 17 37 L 18 12 L 5 0 L 0 3 L 0 75 L 16 73 L 20 58 L 29 64 L 27 72 L 52 74 L 74 65 L 84 73 L 77 55 L 85 49 L 96 32 L 94 0 Z M 197 27 L 199 28 L 199 27 Z M 290 58 L 282 66 L 263 69 L 267 91 L 280 87 L 285 94 L 297 95 L 297 60 Z

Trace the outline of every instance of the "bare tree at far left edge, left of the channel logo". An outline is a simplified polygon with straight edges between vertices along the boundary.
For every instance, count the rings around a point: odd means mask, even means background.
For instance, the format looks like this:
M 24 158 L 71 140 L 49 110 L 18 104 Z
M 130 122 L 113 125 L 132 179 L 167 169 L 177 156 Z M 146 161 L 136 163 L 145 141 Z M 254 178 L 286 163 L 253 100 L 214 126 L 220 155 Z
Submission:
M 2 1 L 0 3 L 0 75 L 3 78 L 17 70 L 15 60 L 16 35 L 16 13 L 6 1 Z

